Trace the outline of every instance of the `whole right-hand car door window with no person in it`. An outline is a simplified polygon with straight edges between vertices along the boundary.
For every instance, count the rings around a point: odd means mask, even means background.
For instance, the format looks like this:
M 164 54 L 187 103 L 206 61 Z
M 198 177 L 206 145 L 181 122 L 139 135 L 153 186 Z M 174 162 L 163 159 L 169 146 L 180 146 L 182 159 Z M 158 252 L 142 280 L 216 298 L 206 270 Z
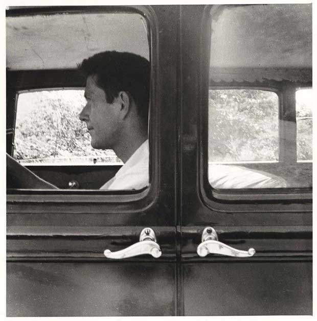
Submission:
M 212 6 L 213 188 L 312 187 L 311 38 L 309 4 Z

